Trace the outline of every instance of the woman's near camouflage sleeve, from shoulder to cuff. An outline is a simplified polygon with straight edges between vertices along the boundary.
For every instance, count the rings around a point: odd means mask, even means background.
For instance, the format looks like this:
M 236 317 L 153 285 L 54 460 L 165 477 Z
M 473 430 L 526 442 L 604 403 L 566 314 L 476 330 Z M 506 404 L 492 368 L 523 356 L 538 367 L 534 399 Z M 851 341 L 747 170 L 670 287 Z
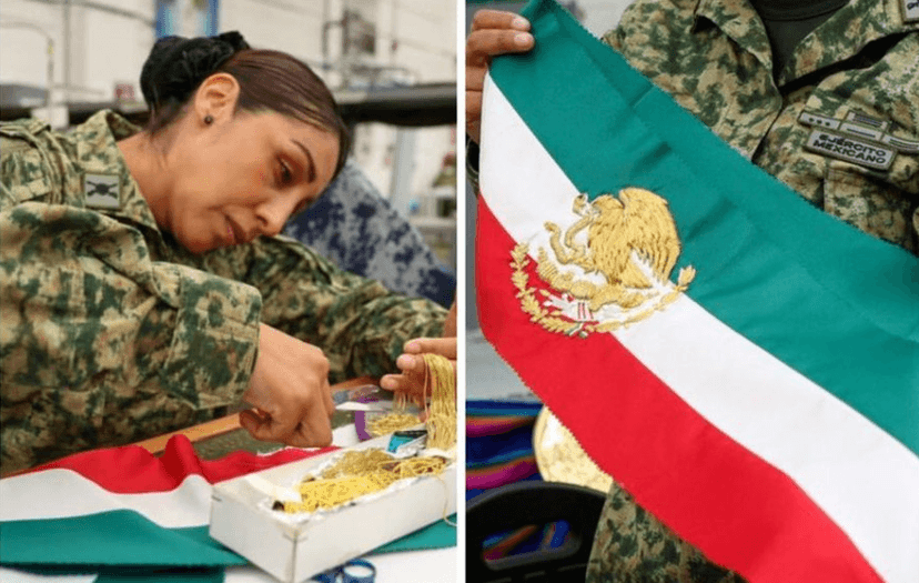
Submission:
M 68 200 L 54 183 L 70 179 L 67 158 L 43 143 L 3 139 L 4 415 L 49 390 L 68 400 L 70 414 L 90 420 L 144 394 L 194 409 L 239 401 L 257 350 L 259 292 L 158 261 L 149 230 Z M 61 163 L 49 171 L 52 164 L 29 157 Z

